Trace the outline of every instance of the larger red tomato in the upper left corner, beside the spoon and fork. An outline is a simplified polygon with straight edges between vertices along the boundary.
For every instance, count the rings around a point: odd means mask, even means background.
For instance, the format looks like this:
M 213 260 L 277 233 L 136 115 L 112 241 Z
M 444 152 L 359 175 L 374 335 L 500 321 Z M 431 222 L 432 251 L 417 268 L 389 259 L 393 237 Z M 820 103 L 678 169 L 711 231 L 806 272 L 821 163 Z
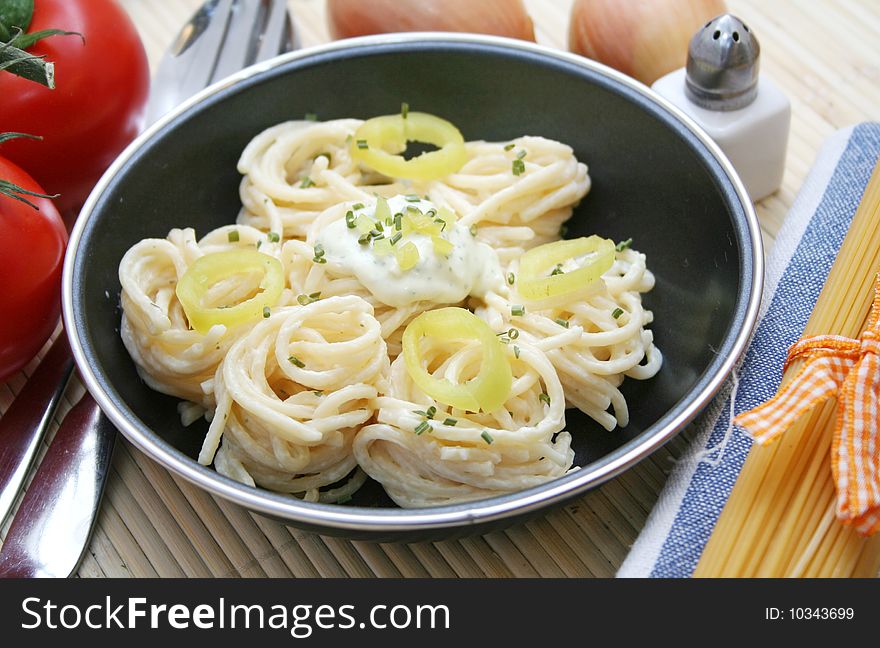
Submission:
M 49 90 L 0 72 L 0 131 L 42 135 L 14 140 L 3 156 L 33 174 L 62 213 L 78 210 L 101 174 L 138 134 L 149 91 L 143 44 L 112 0 L 36 0 L 28 32 L 63 29 L 28 51 L 55 63 Z

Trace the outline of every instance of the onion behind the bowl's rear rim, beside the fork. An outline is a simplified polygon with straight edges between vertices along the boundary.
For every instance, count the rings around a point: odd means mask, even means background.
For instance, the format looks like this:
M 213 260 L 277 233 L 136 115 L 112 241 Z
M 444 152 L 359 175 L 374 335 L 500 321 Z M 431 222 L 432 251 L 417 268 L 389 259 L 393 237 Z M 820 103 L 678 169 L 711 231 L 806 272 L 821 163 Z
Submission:
M 522 0 L 328 0 L 327 23 L 333 38 L 443 31 L 535 40 Z

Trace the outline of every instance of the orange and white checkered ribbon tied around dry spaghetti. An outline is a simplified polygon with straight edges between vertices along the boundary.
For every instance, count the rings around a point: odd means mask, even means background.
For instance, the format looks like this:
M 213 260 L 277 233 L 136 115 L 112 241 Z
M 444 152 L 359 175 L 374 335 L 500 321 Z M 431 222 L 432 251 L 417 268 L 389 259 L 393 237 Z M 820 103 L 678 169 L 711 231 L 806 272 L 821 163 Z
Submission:
M 785 368 L 804 365 L 776 396 L 743 412 L 734 423 L 761 445 L 785 432 L 802 414 L 837 397 L 831 469 L 837 517 L 859 533 L 880 531 L 880 275 L 868 325 L 858 340 L 840 335 L 802 339 L 788 350 Z

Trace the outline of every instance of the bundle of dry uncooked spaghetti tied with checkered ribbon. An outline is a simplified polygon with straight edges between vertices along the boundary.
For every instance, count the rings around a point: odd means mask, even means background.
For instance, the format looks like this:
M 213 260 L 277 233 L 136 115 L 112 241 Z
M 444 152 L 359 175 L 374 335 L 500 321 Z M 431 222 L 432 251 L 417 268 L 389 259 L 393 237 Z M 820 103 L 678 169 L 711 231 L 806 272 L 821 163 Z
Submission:
M 812 316 L 804 329 L 804 340 L 790 352 L 792 362 L 783 376 L 777 399 L 795 393 L 791 388 L 809 385 L 816 380 L 815 372 L 804 370 L 805 363 L 821 360 L 828 380 L 841 363 L 849 364 L 870 344 L 859 342 L 874 339 L 875 332 L 863 334 L 866 326 L 876 326 L 875 281 L 880 271 L 880 165 L 874 170 L 862 202 L 853 218 L 849 233 L 843 242 L 837 260 Z M 876 308 L 876 306 L 875 306 Z M 822 336 L 814 338 L 814 336 Z M 835 337 L 830 337 L 835 336 Z M 838 337 L 839 336 L 839 337 Z M 801 349 L 813 347 L 809 352 Z M 819 346 L 839 347 L 827 355 Z M 861 349 L 861 350 L 860 350 Z M 872 352 L 873 351 L 869 351 Z M 876 372 L 874 372 L 876 373 Z M 858 376 L 850 381 L 856 382 Z M 876 376 L 862 376 L 874 379 Z M 800 381 L 799 383 L 796 381 Z M 814 383 L 815 384 L 815 383 Z M 875 383 L 876 385 L 876 383 Z M 859 388 L 852 394 L 843 385 L 841 396 L 868 398 Z M 876 394 L 873 395 L 876 407 Z M 784 400 L 784 398 L 783 398 Z M 760 416 L 738 417 L 749 429 L 772 423 L 775 417 L 793 415 L 799 410 L 786 411 L 783 400 L 770 401 L 753 412 Z M 861 457 L 866 464 L 877 462 L 877 439 L 861 448 L 851 449 L 847 440 L 841 440 L 837 418 L 838 402 L 834 398 L 815 406 L 797 418 L 782 439 L 771 445 L 755 445 L 730 499 L 706 545 L 694 573 L 695 576 L 743 577 L 868 577 L 880 569 L 880 533 L 868 532 L 865 516 L 846 518 L 845 504 L 850 488 L 870 489 L 871 484 L 857 480 L 856 475 L 841 471 L 840 459 L 847 451 L 850 459 Z M 769 408 L 769 409 L 767 409 Z M 806 409 L 806 408 L 804 408 Z M 869 415 L 876 425 L 876 410 Z M 866 421 L 869 425 L 872 420 Z M 859 425 L 857 424 L 856 428 Z M 856 433 L 858 429 L 850 432 Z M 760 437 L 758 437 L 760 439 Z M 871 447 L 873 443 L 873 447 Z M 841 455 L 843 450 L 843 455 Z M 832 466 L 832 462 L 835 463 Z M 845 461 L 844 463 L 849 463 Z M 846 468 L 846 466 L 844 466 Z M 856 483 L 858 482 L 858 483 Z M 876 485 L 875 485 L 876 487 Z M 844 517 L 843 522 L 840 517 Z M 844 523 L 845 522 L 845 523 Z M 861 529 L 859 528 L 861 526 Z M 876 529 L 874 529 L 876 530 Z

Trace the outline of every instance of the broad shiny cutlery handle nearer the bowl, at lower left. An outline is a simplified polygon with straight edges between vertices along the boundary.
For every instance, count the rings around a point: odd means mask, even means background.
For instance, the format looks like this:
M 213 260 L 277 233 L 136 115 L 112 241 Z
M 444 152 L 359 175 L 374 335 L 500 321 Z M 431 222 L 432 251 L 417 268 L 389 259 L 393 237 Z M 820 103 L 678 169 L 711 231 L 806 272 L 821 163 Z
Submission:
M 49 446 L 0 549 L 0 577 L 67 577 L 82 559 L 116 428 L 87 392 Z

